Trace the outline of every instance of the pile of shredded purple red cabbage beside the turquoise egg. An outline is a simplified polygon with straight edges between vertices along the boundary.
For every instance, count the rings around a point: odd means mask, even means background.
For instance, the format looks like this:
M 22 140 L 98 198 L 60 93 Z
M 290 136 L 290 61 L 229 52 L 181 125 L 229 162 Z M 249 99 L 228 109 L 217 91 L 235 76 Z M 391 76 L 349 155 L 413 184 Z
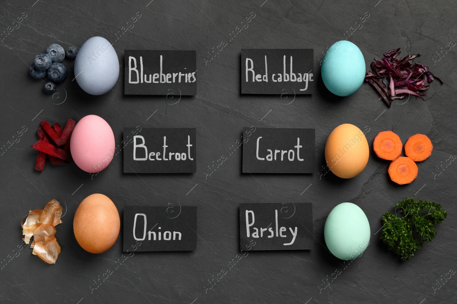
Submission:
M 365 75 L 365 81 L 370 83 L 379 94 L 378 99 L 383 99 L 389 108 L 393 99 L 405 98 L 408 95 L 424 100 L 422 97 L 425 94 L 421 92 L 430 87 L 425 83 L 430 83 L 435 78 L 441 84 L 443 83 L 440 78 L 429 71 L 428 67 L 417 62 L 413 65 L 410 62 L 420 54 L 406 55 L 403 58 L 398 57 L 399 54 L 400 48 L 385 52 L 381 60 L 374 58 L 374 62 L 370 64 L 373 72 L 368 71 Z M 380 79 L 386 80 L 388 86 Z

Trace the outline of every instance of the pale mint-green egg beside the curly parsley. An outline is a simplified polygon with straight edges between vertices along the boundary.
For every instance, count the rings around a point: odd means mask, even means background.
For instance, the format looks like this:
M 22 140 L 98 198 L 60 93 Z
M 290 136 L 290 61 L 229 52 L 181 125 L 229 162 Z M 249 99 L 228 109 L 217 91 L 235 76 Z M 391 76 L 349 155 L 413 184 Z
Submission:
M 324 226 L 329 251 L 342 260 L 360 257 L 370 243 L 370 223 L 353 203 L 341 203 L 330 211 Z

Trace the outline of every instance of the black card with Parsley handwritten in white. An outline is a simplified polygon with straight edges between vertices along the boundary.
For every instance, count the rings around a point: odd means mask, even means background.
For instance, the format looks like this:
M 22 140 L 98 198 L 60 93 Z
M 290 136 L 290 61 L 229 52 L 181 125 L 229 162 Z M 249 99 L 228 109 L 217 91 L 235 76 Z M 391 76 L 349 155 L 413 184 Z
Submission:
M 313 249 L 313 204 L 239 204 L 240 248 L 252 239 L 252 250 Z

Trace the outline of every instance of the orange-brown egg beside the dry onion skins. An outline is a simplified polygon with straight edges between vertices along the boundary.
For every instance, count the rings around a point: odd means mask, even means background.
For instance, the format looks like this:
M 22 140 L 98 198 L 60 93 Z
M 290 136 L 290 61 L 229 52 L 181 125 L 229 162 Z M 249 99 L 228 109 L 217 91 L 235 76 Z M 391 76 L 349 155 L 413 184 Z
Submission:
M 85 251 L 101 253 L 110 249 L 119 236 L 121 220 L 117 208 L 100 193 L 87 196 L 76 209 L 73 232 Z

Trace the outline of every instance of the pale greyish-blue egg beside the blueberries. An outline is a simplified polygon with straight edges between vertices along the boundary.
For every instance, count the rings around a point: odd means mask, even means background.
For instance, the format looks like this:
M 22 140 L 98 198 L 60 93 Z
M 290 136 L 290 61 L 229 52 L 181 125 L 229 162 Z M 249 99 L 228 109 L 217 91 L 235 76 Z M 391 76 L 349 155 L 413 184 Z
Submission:
M 86 93 L 111 90 L 119 77 L 119 59 L 111 43 L 99 36 L 87 39 L 74 60 L 74 76 Z

